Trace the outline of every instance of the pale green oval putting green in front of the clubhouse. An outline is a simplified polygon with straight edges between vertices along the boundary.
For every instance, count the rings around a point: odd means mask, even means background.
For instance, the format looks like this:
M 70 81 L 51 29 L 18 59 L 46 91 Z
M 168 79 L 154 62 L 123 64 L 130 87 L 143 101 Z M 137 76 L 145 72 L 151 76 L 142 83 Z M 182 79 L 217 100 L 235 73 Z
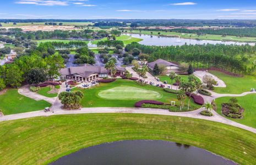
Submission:
M 151 100 L 161 98 L 159 92 L 140 89 L 132 86 L 118 86 L 108 90 L 100 91 L 98 94 L 101 98 L 111 100 Z

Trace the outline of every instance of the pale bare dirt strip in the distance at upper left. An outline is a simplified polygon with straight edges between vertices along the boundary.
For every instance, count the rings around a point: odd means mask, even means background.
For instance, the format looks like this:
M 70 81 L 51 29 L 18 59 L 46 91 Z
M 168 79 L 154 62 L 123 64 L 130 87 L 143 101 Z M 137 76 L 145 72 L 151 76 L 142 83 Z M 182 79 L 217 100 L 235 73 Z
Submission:
M 1 27 L 5 29 L 17 28 L 17 27 Z M 54 31 L 54 30 L 77 30 L 74 26 L 51 26 L 51 25 L 32 25 L 32 26 L 19 26 L 23 31 Z

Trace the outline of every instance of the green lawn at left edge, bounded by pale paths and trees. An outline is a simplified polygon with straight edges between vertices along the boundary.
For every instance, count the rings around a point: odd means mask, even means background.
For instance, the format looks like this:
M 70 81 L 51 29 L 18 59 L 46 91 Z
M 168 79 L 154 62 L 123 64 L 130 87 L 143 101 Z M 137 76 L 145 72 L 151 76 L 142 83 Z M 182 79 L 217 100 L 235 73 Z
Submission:
M 18 93 L 17 89 L 9 89 L 0 95 L 0 110 L 4 115 L 39 111 L 51 104 L 46 101 L 35 101 Z

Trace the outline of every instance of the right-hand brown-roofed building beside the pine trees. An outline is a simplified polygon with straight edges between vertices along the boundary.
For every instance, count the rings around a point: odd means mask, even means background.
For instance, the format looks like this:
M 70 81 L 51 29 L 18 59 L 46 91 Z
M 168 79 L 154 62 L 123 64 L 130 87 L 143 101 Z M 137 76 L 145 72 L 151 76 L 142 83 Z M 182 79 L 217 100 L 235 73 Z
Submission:
M 165 73 L 171 73 L 172 71 L 175 73 L 179 72 L 179 65 L 171 62 L 167 62 L 164 59 L 157 59 L 154 62 L 148 63 L 149 69 L 153 70 L 155 67 L 155 64 L 157 64 L 158 66 L 164 65 L 166 67 Z

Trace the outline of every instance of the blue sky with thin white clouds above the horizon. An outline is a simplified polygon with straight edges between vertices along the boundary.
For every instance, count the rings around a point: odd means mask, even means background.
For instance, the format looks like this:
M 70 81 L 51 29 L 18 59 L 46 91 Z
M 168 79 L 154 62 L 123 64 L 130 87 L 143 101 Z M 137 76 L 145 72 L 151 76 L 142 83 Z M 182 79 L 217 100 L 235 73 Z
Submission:
M 5 0 L 0 19 L 256 19 L 255 0 Z

